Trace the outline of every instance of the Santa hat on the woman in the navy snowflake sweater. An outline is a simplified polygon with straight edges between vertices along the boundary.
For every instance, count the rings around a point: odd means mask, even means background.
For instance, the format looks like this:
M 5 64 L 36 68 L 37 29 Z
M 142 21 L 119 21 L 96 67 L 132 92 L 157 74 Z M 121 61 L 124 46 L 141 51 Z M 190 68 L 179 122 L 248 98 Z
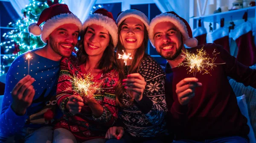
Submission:
M 145 14 L 143 12 L 138 11 L 136 9 L 128 9 L 126 11 L 121 12 L 119 14 L 119 16 L 117 17 L 117 20 L 116 20 L 117 26 L 119 26 L 128 17 L 134 17 L 134 18 L 139 19 L 146 26 L 147 31 L 149 31 L 149 20 L 148 20 L 148 17 L 145 16 Z

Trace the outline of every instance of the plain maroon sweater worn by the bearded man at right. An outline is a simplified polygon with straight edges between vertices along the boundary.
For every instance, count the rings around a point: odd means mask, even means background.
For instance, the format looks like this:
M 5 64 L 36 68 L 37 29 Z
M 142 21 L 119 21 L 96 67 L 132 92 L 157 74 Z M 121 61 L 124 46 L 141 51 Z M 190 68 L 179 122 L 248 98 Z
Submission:
M 196 52 L 201 46 L 190 48 Z M 168 118 L 171 120 L 169 129 L 175 132 L 177 139 L 206 140 L 225 136 L 247 137 L 249 126 L 238 107 L 236 95 L 229 84 L 227 76 L 243 83 L 245 86 L 256 88 L 256 70 L 239 63 L 237 59 L 224 50 L 220 45 L 205 44 L 204 50 L 210 57 L 215 50 L 218 64 L 210 74 L 197 73 L 198 82 L 195 97 L 189 104 L 180 105 L 176 84 L 184 78 L 193 77 L 187 73 L 187 67 L 171 68 L 166 65 L 166 102 L 169 109 Z

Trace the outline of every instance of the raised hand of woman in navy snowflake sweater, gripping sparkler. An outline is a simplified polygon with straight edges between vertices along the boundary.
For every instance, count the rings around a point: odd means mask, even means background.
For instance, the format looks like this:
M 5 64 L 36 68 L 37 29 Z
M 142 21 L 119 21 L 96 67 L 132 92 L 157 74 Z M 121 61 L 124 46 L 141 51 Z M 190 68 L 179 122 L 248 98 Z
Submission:
M 122 81 L 125 89 L 133 92 L 134 100 L 140 101 L 147 84 L 145 79 L 139 73 L 131 73 L 127 76 L 127 79 L 123 79 Z

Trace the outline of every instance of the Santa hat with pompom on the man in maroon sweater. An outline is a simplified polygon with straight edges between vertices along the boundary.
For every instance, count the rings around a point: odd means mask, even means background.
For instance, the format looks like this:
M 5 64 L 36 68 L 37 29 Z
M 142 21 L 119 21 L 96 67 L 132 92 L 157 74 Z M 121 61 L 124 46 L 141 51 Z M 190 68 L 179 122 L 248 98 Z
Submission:
M 198 45 L 198 40 L 193 38 L 192 31 L 189 26 L 189 23 L 184 20 L 182 17 L 179 17 L 175 12 L 166 12 L 163 14 L 159 14 L 151 20 L 149 25 L 148 37 L 151 44 L 154 46 L 154 27 L 157 23 L 160 22 L 172 22 L 181 32 L 185 41 L 184 44 L 188 47 L 196 47 Z

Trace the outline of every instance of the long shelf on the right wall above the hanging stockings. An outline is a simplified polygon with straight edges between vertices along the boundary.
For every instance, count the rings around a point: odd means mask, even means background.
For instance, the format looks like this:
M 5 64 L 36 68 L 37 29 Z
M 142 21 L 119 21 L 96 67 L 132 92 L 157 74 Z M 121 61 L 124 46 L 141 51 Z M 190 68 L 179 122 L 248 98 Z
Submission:
M 241 9 L 236 9 L 232 11 L 225 11 L 225 12 L 220 12 L 216 14 L 209 14 L 209 15 L 204 15 L 201 17 L 191 17 L 191 19 L 194 20 L 199 20 L 201 19 L 204 22 L 220 22 L 221 18 L 224 18 L 225 21 L 231 21 L 231 16 L 232 20 L 241 20 L 244 12 L 248 12 L 248 18 L 250 17 L 255 17 L 255 9 L 256 6 L 253 7 L 248 7 L 248 8 L 241 8 Z

